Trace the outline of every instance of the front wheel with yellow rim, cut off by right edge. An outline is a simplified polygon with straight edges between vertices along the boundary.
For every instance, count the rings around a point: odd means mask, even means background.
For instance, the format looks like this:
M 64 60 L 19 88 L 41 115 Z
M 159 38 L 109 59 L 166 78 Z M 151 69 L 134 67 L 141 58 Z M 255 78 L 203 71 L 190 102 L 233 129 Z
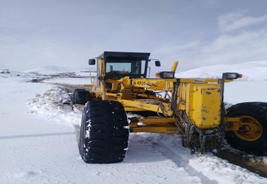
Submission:
M 241 127 L 226 132 L 228 143 L 240 150 L 262 155 L 267 151 L 267 103 L 245 102 L 227 109 L 226 117 L 241 117 Z

